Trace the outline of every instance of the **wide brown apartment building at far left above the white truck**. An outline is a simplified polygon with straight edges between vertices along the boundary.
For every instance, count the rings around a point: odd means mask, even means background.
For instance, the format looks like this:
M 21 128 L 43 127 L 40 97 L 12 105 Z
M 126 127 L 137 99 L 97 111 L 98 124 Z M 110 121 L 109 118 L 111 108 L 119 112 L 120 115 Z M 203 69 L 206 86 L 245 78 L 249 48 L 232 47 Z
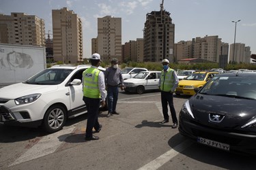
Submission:
M 44 46 L 44 36 L 44 20 L 38 16 L 20 12 L 0 14 L 0 43 Z

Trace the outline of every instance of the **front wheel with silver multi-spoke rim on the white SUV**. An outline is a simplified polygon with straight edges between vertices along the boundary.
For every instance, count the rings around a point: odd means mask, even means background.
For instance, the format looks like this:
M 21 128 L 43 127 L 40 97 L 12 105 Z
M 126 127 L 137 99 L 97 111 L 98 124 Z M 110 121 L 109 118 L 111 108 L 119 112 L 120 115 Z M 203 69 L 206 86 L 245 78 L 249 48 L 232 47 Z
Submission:
M 53 105 L 44 115 L 43 128 L 49 133 L 55 133 L 62 129 L 66 119 L 66 109 L 61 105 Z

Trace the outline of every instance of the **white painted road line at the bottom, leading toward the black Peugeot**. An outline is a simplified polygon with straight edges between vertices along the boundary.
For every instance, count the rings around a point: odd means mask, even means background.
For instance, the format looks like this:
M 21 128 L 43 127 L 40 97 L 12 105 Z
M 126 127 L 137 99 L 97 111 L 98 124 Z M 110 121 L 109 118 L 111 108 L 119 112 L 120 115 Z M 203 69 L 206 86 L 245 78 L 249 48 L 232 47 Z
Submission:
M 143 167 L 141 167 L 138 170 L 155 170 L 155 169 L 158 169 L 158 168 L 162 167 L 162 165 L 167 163 L 169 160 L 171 160 L 171 158 L 173 158 L 177 154 L 180 154 L 180 152 L 182 152 L 183 150 L 188 148 L 188 146 L 190 146 L 191 144 L 192 144 L 191 141 L 186 140 L 186 141 L 180 143 L 180 145 L 175 146 L 175 148 L 165 152 L 165 154 L 162 154 L 161 156 L 159 156 L 155 160 L 152 160 L 150 163 L 147 163 L 146 165 L 144 165 Z

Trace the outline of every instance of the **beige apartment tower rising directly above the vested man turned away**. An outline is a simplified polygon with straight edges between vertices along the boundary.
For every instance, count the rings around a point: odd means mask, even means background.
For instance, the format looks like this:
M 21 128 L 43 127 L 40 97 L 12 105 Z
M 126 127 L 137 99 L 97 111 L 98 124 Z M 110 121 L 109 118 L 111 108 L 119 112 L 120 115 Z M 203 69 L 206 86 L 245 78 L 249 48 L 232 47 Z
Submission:
M 122 62 L 122 18 L 98 18 L 98 53 L 102 61 L 117 58 Z

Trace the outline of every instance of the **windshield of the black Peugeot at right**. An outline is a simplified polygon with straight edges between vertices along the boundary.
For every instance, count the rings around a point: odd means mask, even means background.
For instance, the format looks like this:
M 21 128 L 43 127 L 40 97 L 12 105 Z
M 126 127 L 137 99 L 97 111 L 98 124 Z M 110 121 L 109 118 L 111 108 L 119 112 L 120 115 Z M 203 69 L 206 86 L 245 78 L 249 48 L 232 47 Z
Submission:
M 256 99 L 256 78 L 243 76 L 216 76 L 199 93 Z

